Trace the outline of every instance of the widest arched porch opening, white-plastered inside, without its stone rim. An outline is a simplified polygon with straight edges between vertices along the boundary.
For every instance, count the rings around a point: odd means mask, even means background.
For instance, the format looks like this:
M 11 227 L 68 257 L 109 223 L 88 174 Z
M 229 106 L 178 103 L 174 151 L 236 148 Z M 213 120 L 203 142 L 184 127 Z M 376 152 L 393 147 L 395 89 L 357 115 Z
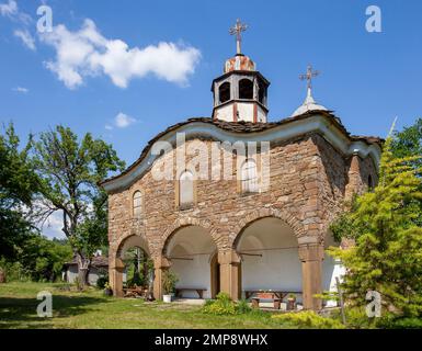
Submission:
M 273 291 L 294 293 L 301 302 L 303 268 L 298 241 L 284 220 L 264 217 L 247 225 L 235 241 L 241 257 L 241 294 Z

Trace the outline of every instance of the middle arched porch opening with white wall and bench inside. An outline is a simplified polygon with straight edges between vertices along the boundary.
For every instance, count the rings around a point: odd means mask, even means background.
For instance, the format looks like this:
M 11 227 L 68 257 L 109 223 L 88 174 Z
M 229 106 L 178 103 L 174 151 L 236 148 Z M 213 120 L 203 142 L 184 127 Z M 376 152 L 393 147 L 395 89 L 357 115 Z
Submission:
M 199 226 L 182 227 L 170 236 L 164 245 L 163 256 L 171 263 L 170 270 L 176 275 L 175 287 L 180 297 L 212 298 L 218 291 L 213 274 L 217 267 L 214 259 L 216 250 L 209 233 Z

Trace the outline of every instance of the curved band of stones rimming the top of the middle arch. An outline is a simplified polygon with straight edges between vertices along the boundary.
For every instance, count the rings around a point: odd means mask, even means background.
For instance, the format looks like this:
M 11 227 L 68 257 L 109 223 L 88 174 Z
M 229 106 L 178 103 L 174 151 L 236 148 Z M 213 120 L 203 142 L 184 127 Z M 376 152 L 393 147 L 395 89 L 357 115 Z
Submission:
M 167 228 L 164 231 L 163 236 L 161 237 L 160 245 L 152 254 L 160 257 L 162 252 L 166 249 L 167 244 L 170 241 L 171 237 L 179 231 L 180 229 L 189 226 L 196 226 L 196 227 L 202 227 L 204 228 L 212 237 L 214 244 L 216 245 L 217 248 L 221 247 L 221 238 L 217 233 L 217 229 L 212 225 L 209 220 L 206 219 L 198 219 L 194 217 L 182 217 L 178 218 L 173 222 L 173 224 Z

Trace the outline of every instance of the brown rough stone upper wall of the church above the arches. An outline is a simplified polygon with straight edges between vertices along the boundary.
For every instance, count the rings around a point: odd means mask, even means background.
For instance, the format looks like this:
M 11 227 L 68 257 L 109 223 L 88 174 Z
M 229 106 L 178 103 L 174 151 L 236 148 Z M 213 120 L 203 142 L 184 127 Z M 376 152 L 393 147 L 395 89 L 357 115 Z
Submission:
M 187 147 L 209 140 L 189 140 Z M 174 151 L 163 158 L 173 158 Z M 210 161 L 210 155 L 208 155 Z M 233 156 L 235 158 L 235 156 Z M 163 159 L 166 161 L 166 159 Z M 186 158 L 189 163 L 190 158 Z M 235 163 L 235 162 L 233 162 Z M 358 160 L 360 177 L 353 184 L 361 192 L 368 174 L 376 181 L 370 159 Z M 116 252 L 123 238 L 142 235 L 151 256 L 160 256 L 164 240 L 178 223 L 201 223 L 213 235 L 218 249 L 231 248 L 239 234 L 239 223 L 252 219 L 264 208 L 281 211 L 296 226 L 298 236 L 322 236 L 328 223 L 339 212 L 345 197 L 351 160 L 344 159 L 320 135 L 306 135 L 271 148 L 270 190 L 259 194 L 239 193 L 237 180 L 196 181 L 196 203 L 192 210 L 179 211 L 175 181 L 156 181 L 147 172 L 129 189 L 110 195 L 109 240 Z M 233 167 L 235 168 L 235 167 Z M 175 169 L 175 168 L 174 168 Z M 357 188 L 356 188 L 357 186 Z M 144 195 L 144 216 L 132 218 L 132 196 Z M 170 230 L 169 230 L 170 228 Z

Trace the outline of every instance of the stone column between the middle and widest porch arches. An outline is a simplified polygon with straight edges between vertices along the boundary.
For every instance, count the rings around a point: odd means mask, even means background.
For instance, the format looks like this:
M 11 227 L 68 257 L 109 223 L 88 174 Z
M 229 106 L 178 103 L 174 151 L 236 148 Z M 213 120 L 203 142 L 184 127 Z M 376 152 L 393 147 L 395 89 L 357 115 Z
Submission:
M 240 257 L 230 249 L 218 252 L 218 263 L 220 265 L 220 291 L 229 294 L 232 299 L 239 299 L 240 286 Z

